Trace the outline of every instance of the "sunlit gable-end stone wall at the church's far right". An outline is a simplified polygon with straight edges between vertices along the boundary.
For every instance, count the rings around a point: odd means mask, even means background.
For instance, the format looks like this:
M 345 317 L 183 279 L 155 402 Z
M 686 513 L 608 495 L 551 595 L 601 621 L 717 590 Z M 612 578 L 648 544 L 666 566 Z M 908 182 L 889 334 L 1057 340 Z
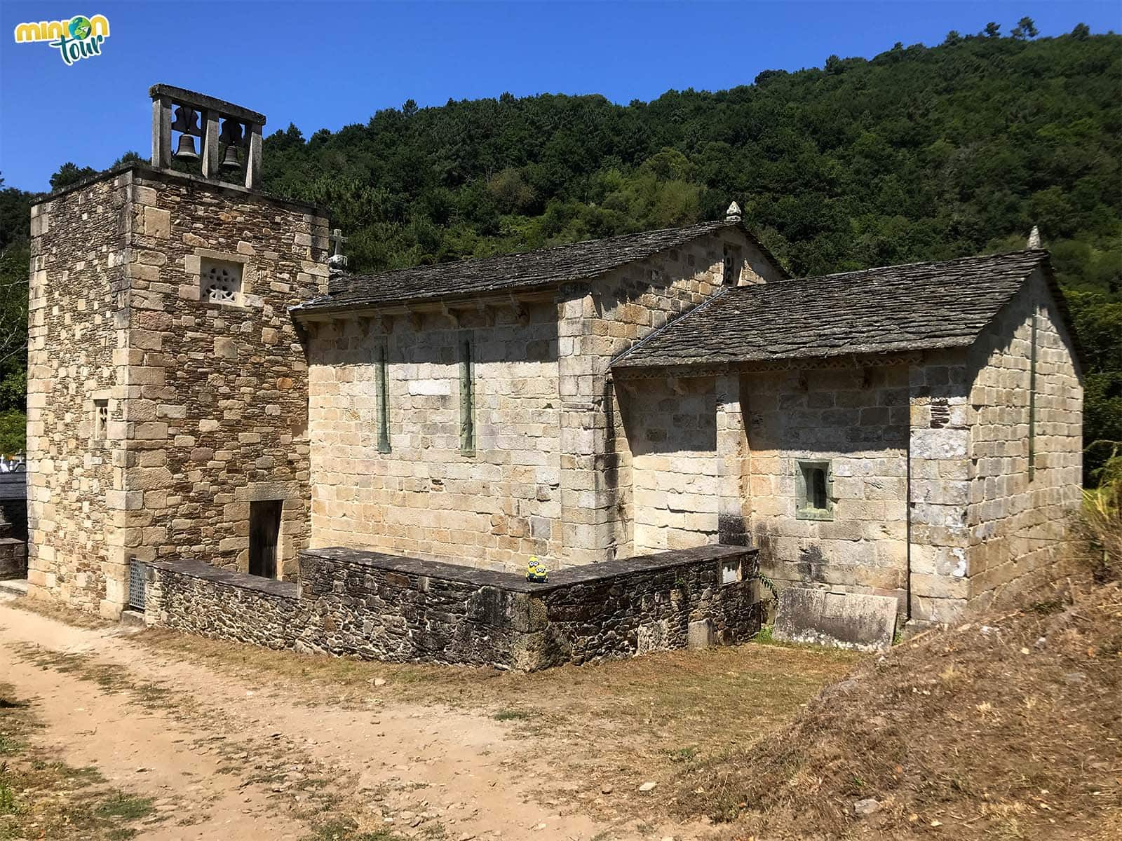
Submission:
M 975 466 L 965 525 L 969 598 L 986 607 L 1064 574 L 1072 517 L 1082 499 L 1078 363 L 1039 272 L 983 334 L 972 362 L 968 446 Z

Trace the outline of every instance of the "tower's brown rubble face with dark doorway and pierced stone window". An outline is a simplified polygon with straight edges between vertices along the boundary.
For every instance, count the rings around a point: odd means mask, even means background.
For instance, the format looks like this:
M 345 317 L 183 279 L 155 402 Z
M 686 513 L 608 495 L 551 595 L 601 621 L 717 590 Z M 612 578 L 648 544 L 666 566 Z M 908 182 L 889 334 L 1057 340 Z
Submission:
M 249 507 L 282 499 L 278 574 L 307 546 L 307 364 L 287 308 L 327 292 L 328 221 L 306 205 L 141 170 L 135 178 L 128 372 L 119 431 L 138 560 L 249 564 Z M 236 303 L 204 259 L 241 266 Z

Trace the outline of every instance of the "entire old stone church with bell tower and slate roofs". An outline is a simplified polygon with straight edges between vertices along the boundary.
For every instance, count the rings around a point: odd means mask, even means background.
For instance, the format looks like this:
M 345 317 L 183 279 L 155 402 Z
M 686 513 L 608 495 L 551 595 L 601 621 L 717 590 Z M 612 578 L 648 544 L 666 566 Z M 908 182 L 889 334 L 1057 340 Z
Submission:
M 31 595 L 117 617 L 147 580 L 182 619 L 222 610 L 199 582 L 295 603 L 349 558 L 334 591 L 361 567 L 362 609 L 394 612 L 371 570 L 430 610 L 432 576 L 523 598 L 531 555 L 555 586 L 610 573 L 613 592 L 751 558 L 690 597 L 692 634 L 721 625 L 697 599 L 757 567 L 917 622 L 1055 575 L 1082 373 L 1039 243 L 792 278 L 734 204 L 348 274 L 323 211 L 259 188 L 263 114 L 150 93 L 150 165 L 31 210 Z M 652 586 L 627 609 L 673 601 Z M 456 626 L 442 611 L 422 623 Z M 632 650 L 673 644 L 659 621 Z

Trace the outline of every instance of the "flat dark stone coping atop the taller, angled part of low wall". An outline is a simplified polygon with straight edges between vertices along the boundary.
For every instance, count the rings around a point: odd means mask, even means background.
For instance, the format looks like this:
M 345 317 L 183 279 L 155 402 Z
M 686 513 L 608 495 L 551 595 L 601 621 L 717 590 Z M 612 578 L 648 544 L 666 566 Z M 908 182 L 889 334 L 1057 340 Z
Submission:
M 691 566 L 706 561 L 723 561 L 725 558 L 738 557 L 741 555 L 756 554 L 758 549 L 748 546 L 697 546 L 690 549 L 673 549 L 671 552 L 660 552 L 654 555 L 638 555 L 636 557 L 620 558 L 616 561 L 603 561 L 598 564 L 581 564 L 569 566 L 557 572 L 550 572 L 548 582 L 526 581 L 525 576 L 513 572 L 496 572 L 494 570 L 480 570 L 473 566 L 461 566 L 459 564 L 448 564 L 441 561 L 422 561 L 415 557 L 404 557 L 402 555 L 387 555 L 381 552 L 368 552 L 366 549 L 352 549 L 343 546 L 331 546 L 321 549 L 304 549 L 302 557 L 321 557 L 325 561 L 348 561 L 361 566 L 369 566 L 375 570 L 388 570 L 399 572 L 405 575 L 427 575 L 433 579 L 444 579 L 447 581 L 458 581 L 478 586 L 494 586 L 499 590 L 507 590 L 517 593 L 542 593 L 574 584 L 588 584 L 594 582 L 608 581 L 636 572 L 652 572 L 655 570 L 669 570 L 675 566 Z

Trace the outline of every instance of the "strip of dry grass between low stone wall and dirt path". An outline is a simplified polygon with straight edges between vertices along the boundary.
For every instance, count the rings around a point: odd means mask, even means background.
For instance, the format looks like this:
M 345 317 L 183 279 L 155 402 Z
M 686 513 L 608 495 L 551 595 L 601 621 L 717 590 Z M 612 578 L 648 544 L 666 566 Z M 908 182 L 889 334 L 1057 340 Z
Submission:
M 839 650 L 747 644 L 522 674 L 272 651 L 166 630 L 136 639 L 284 686 L 309 704 L 450 706 L 499 720 L 523 737 L 527 755 L 555 758 L 558 780 L 539 789 L 563 785 L 590 812 L 616 819 L 663 811 L 665 797 L 635 795 L 641 783 L 666 783 L 724 756 L 730 740 L 774 731 L 862 659 Z M 605 786 L 613 795 L 598 803 Z

